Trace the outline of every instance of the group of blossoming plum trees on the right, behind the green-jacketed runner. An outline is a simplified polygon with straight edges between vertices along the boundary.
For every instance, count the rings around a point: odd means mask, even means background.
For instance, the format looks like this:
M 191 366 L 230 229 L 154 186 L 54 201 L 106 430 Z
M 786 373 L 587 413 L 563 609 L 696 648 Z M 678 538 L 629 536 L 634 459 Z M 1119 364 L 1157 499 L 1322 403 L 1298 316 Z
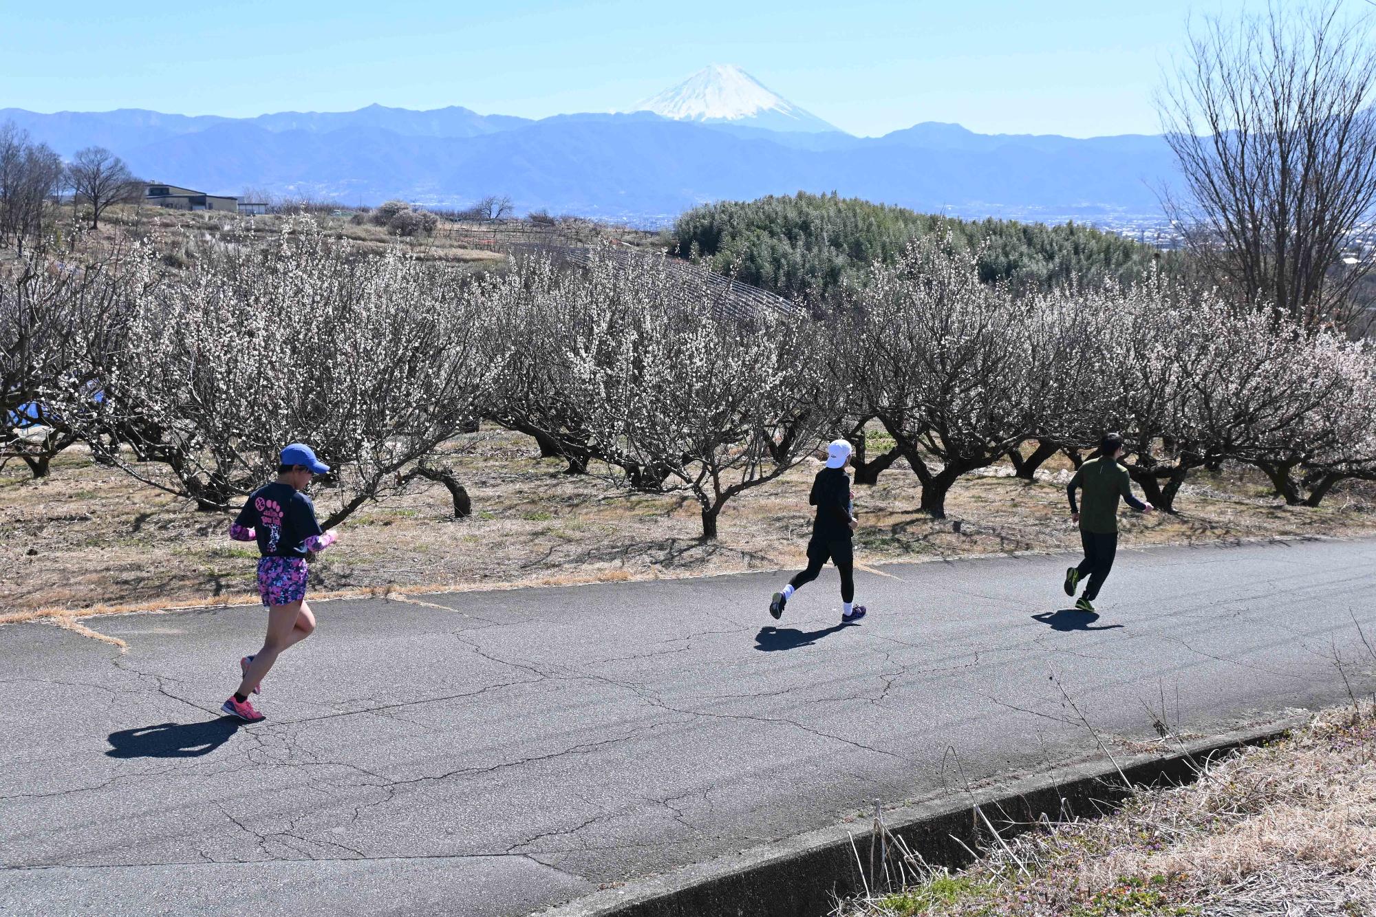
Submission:
M 923 240 L 872 268 L 834 341 L 850 410 L 883 424 L 936 516 L 960 475 L 1020 443 L 1079 460 L 1106 430 L 1163 509 L 1192 470 L 1225 460 L 1262 468 L 1292 504 L 1376 476 L 1369 344 L 1153 271 L 1014 295 L 978 284 L 977 253 Z

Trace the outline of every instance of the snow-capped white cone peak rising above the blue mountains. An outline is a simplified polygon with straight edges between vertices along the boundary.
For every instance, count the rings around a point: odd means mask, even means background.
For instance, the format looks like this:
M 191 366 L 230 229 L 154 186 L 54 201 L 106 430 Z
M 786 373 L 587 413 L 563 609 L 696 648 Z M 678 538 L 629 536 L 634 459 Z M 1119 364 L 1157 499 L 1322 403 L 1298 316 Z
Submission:
M 640 102 L 632 110 L 654 112 L 674 121 L 732 124 L 805 134 L 839 132 L 839 128 L 765 88 L 760 80 L 733 63 L 703 67 L 678 85 Z

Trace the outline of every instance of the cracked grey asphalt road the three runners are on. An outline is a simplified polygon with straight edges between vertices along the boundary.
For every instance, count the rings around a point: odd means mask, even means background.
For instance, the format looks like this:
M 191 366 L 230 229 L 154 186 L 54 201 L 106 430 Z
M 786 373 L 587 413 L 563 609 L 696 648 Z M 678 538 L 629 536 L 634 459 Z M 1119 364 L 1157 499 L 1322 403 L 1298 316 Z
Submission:
M 219 716 L 257 609 L 0 629 L 0 911 L 526 914 L 878 797 L 1376 688 L 1376 542 L 1066 556 L 332 602 Z M 245 570 L 245 576 L 249 571 Z M 1365 662 L 1359 660 L 1365 658 Z M 1163 702 L 1164 699 L 1164 702 Z M 1073 705 L 1069 702 L 1073 701 Z M 1112 748 L 1112 745 L 1110 745 Z

